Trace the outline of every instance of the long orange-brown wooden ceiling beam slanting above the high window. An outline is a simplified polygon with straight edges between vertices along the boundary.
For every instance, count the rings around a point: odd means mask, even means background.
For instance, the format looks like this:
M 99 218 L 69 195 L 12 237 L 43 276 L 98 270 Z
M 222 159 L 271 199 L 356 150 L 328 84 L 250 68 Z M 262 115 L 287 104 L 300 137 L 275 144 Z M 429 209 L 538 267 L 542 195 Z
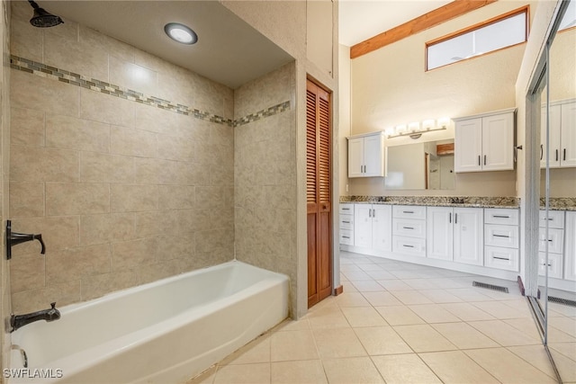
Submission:
M 469 13 L 484 5 L 496 2 L 497 0 L 455 0 L 452 3 L 440 8 L 424 13 L 410 22 L 392 28 L 391 30 L 377 34 L 376 36 L 359 42 L 350 48 L 350 58 L 358 58 L 376 49 L 381 49 L 388 44 L 407 38 L 420 31 L 427 30 L 442 22 L 447 22 L 464 13 Z

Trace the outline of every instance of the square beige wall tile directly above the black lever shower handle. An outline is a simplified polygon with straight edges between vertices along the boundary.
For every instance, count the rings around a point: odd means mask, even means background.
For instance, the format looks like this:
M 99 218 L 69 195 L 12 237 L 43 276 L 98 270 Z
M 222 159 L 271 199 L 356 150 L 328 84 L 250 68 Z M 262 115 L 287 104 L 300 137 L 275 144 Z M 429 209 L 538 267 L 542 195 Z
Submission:
M 10 216 L 44 216 L 44 183 L 10 183 Z

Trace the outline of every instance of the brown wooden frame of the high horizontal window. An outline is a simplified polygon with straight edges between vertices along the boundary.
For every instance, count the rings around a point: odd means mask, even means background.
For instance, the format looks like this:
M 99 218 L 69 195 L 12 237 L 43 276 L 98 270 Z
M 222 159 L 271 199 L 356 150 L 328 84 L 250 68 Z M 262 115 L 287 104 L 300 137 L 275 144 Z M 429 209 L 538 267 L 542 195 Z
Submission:
M 479 55 L 474 55 L 474 56 L 471 57 L 471 58 L 463 58 L 463 59 L 461 59 L 461 60 L 455 61 L 455 62 L 453 62 L 453 63 L 447 63 L 447 64 L 442 65 L 442 66 L 439 66 L 439 67 L 428 68 L 428 48 L 429 48 L 429 47 L 434 46 L 434 45 L 437 45 L 437 44 L 442 43 L 442 42 L 447 41 L 447 40 L 455 39 L 455 38 L 457 38 L 457 37 L 459 37 L 459 36 L 462 36 L 462 35 L 464 35 L 464 34 L 466 34 L 466 33 L 471 32 L 471 31 L 480 30 L 480 29 L 482 29 L 482 28 L 484 28 L 484 27 L 487 27 L 487 26 L 489 26 L 489 25 L 491 25 L 491 24 L 494 24 L 494 23 L 496 23 L 496 22 L 501 22 L 501 21 L 503 21 L 503 20 L 509 19 L 510 17 L 518 16 L 518 14 L 522 14 L 522 13 L 524 13 L 524 16 L 525 16 L 525 18 L 526 18 L 526 21 L 525 21 L 526 29 L 525 29 L 525 31 L 524 31 L 524 41 L 518 42 L 518 43 L 516 43 L 516 44 L 509 45 L 509 46 L 506 46 L 506 47 L 502 47 L 502 48 L 500 48 L 500 49 L 494 49 L 494 50 L 491 50 L 491 51 L 489 51 L 489 52 L 484 52 L 484 53 L 479 54 Z M 527 40 L 528 40 L 529 31 L 530 31 L 530 5 L 527 4 L 527 5 L 521 6 L 520 8 L 517 8 L 517 9 L 514 9 L 514 10 L 512 10 L 512 11 L 509 11 L 509 12 L 507 12 L 507 13 L 502 13 L 502 14 L 500 14 L 500 15 L 498 15 L 498 16 L 492 17 L 491 19 L 488 19 L 488 20 L 486 20 L 486 21 L 484 21 L 484 22 L 478 22 L 478 23 L 473 24 L 473 25 L 471 25 L 471 26 L 469 26 L 469 27 L 466 27 L 466 28 L 464 28 L 464 29 L 462 29 L 462 30 L 455 31 L 455 32 L 452 32 L 452 33 L 448 33 L 447 35 L 442 36 L 442 37 L 439 37 L 439 38 L 434 39 L 434 40 L 429 40 L 429 41 L 427 41 L 427 42 L 425 43 L 425 55 L 424 55 L 424 56 L 425 56 L 425 61 L 424 61 L 425 72 L 432 71 L 432 70 L 435 70 L 435 69 L 438 69 L 438 68 L 443 68 L 443 67 L 451 66 L 451 65 L 453 65 L 453 64 L 460 63 L 460 62 L 463 62 L 463 61 L 467 61 L 467 60 L 470 60 L 470 59 L 473 59 L 473 58 L 481 58 L 482 56 L 489 55 L 489 54 L 494 53 L 494 52 L 498 52 L 498 51 L 500 51 L 500 50 L 502 50 L 502 49 L 509 49 L 509 48 L 512 48 L 512 47 L 516 47 L 517 45 L 520 45 L 520 44 L 526 44 L 526 42 L 527 42 Z

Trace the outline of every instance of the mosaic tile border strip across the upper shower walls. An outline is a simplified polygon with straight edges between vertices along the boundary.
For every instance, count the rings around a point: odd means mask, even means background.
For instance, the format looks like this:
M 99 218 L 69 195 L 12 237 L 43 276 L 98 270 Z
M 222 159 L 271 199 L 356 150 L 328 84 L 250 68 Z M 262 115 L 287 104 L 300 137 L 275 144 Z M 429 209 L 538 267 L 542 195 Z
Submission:
M 31 75 L 51 78 L 69 85 L 76 85 L 85 89 L 90 89 L 94 92 L 109 94 L 111 96 L 120 97 L 124 100 L 130 100 L 131 102 L 157 107 L 166 111 L 192 116 L 193 118 L 202 121 L 211 121 L 229 127 L 237 127 L 253 121 L 258 121 L 266 117 L 274 116 L 277 113 L 288 111 L 291 108 L 290 101 L 286 101 L 267 108 L 266 110 L 251 113 L 245 117 L 232 121 L 231 119 L 226 119 L 210 112 L 200 111 L 179 103 L 171 103 L 168 100 L 159 97 L 142 94 L 128 88 L 123 88 L 119 85 L 113 85 L 94 78 L 82 76 L 65 69 L 51 67 L 27 58 L 10 55 L 10 67 Z

